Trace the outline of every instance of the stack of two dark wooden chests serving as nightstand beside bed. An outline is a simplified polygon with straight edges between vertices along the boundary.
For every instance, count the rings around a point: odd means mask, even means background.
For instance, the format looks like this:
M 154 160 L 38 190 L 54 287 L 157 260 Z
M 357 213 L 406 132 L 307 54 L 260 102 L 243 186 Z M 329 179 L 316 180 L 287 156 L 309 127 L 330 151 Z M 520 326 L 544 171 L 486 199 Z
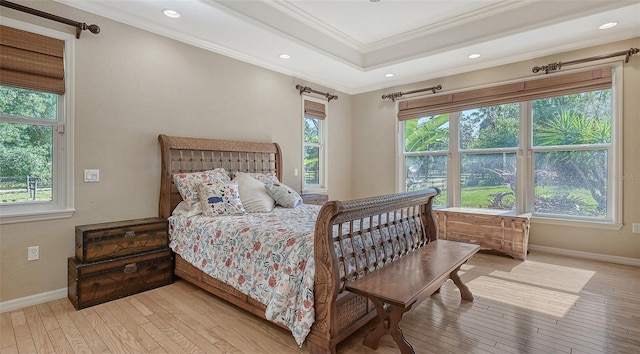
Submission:
M 68 297 L 76 309 L 173 282 L 167 220 L 145 218 L 76 226 Z

